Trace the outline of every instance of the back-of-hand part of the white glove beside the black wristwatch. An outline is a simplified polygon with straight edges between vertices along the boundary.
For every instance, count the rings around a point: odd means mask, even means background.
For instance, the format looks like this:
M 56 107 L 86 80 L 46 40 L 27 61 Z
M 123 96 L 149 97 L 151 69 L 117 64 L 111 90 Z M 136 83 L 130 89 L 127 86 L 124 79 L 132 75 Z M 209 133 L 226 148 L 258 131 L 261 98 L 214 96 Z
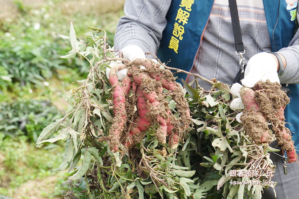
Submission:
M 260 80 L 280 83 L 277 62 L 270 53 L 261 52 L 252 56 L 247 63 L 244 79 L 241 82 L 243 86 L 252 88 Z

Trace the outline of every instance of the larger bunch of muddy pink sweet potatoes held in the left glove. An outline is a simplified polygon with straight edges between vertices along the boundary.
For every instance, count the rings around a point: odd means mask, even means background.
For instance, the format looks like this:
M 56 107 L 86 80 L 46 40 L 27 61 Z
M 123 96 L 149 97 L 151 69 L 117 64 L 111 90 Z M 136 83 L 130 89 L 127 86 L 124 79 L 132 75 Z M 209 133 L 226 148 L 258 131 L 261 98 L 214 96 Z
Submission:
M 127 76 L 120 82 L 115 72 L 125 68 L 128 69 Z M 159 142 L 165 144 L 168 137 L 168 145 L 177 147 L 186 134 L 191 117 L 182 88 L 170 70 L 160 69 L 159 64 L 149 59 L 136 59 L 127 65 L 113 66 L 109 82 L 114 105 L 108 136 L 112 151 L 118 151 L 120 143 L 127 148 L 139 143 L 151 126 Z M 170 111 L 167 97 L 176 102 L 176 117 Z

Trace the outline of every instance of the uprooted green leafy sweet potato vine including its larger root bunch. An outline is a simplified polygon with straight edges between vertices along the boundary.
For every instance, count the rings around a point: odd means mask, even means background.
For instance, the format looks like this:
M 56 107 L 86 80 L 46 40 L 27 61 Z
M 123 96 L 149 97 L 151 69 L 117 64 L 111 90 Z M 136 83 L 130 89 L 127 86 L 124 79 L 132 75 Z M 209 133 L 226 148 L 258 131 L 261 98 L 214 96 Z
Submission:
M 68 168 L 68 178 L 75 180 L 65 198 L 241 199 L 246 193 L 260 199 L 263 188 L 274 187 L 263 184 L 266 173 L 257 180 L 261 185 L 230 184 L 252 180 L 230 177 L 230 170 L 249 171 L 275 149 L 245 134 L 229 107 L 228 85 L 186 72 L 213 86 L 193 89 L 183 81 L 182 89 L 166 70 L 174 68 L 159 60 L 116 57 L 120 52 L 106 44 L 105 31 L 91 30 L 96 33 L 86 33 L 85 42 L 72 25 L 70 37 L 61 36 L 72 47 L 62 58 L 86 59 L 88 76 L 63 93 L 69 104 L 65 116 L 46 127 L 36 143 L 65 140 L 57 170 Z M 106 69 L 117 60 L 122 63 L 112 67 L 108 80 Z M 122 68 L 128 73 L 119 80 L 115 72 Z M 263 162 L 267 171 L 275 168 L 270 158 Z

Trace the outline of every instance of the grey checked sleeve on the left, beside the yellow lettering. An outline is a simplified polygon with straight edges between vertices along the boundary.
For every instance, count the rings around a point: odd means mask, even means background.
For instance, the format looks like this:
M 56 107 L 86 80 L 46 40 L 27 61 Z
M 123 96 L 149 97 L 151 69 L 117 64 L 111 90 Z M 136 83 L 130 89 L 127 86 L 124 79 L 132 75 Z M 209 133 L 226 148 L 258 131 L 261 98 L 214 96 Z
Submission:
M 115 49 L 138 45 L 144 52 L 155 54 L 166 27 L 169 0 L 126 0 L 125 16 L 115 33 Z

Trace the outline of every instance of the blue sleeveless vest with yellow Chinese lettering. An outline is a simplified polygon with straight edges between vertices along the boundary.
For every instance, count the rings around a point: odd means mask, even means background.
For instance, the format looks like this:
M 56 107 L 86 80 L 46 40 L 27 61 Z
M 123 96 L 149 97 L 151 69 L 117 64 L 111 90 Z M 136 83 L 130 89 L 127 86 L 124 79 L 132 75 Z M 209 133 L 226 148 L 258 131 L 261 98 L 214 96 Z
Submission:
M 278 16 L 278 4 L 279 17 Z M 191 3 L 190 3 L 191 2 Z M 158 57 L 162 62 L 171 60 L 171 66 L 189 71 L 192 69 L 205 28 L 208 24 L 213 0 L 181 1 L 172 0 L 166 15 L 167 25 L 163 31 Z M 287 47 L 296 31 L 296 5 L 285 0 L 263 0 L 271 48 L 276 52 Z M 277 24 L 276 24 L 277 23 Z M 276 27 L 275 27 L 276 26 Z M 273 31 L 274 30 L 274 31 Z M 187 79 L 184 73 L 177 74 L 178 79 Z M 290 104 L 285 110 L 287 127 L 294 134 L 295 145 L 299 145 L 299 86 L 290 84 L 292 90 Z

